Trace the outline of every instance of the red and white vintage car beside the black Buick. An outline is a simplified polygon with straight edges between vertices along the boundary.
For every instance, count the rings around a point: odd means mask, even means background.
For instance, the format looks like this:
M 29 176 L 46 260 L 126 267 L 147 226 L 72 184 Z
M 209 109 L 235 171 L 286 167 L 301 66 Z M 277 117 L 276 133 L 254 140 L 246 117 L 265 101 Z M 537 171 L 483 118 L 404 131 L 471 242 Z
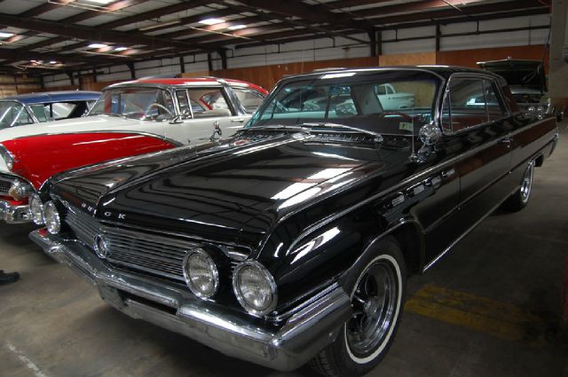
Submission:
M 122 82 L 86 117 L 0 130 L 0 218 L 30 221 L 29 194 L 61 171 L 230 136 L 266 93 L 214 77 Z

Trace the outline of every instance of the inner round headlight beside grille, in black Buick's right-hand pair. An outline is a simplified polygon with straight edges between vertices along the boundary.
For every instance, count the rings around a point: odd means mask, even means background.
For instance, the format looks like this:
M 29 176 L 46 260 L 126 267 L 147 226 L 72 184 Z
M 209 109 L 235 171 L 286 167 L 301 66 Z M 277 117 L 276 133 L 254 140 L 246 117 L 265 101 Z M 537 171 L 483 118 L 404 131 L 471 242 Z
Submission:
M 195 248 L 185 255 L 184 277 L 193 295 L 208 299 L 219 289 L 219 271 L 213 259 L 201 248 Z

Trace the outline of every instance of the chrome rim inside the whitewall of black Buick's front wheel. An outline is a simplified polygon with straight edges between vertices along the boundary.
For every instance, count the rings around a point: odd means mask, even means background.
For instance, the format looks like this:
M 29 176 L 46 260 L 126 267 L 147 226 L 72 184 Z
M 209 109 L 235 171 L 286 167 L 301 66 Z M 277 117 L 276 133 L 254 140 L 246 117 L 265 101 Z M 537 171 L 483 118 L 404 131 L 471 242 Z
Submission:
M 356 356 L 365 357 L 387 336 L 396 316 L 398 289 L 396 271 L 386 261 L 371 265 L 359 279 L 346 328 L 347 342 Z

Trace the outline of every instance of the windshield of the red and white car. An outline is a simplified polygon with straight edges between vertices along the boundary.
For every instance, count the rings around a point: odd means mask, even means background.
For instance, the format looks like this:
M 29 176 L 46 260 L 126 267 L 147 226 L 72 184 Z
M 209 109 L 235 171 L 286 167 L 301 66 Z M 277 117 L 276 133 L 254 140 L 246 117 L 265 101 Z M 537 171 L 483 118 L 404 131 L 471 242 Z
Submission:
M 142 121 L 166 121 L 176 110 L 168 90 L 116 88 L 103 91 L 89 115 L 120 115 Z

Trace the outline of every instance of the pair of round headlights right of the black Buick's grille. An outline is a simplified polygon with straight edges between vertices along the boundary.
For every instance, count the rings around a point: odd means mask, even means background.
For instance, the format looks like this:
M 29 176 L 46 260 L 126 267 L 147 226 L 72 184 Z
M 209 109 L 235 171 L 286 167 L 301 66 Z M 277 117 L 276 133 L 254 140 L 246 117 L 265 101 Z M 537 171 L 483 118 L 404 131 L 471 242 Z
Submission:
M 208 300 L 220 288 L 229 284 L 223 281 L 228 271 L 223 261 L 216 262 L 216 254 L 196 247 L 185 255 L 184 277 L 194 295 Z M 262 317 L 274 310 L 277 302 L 276 283 L 266 268 L 256 261 L 242 262 L 233 271 L 233 292 L 248 313 Z

